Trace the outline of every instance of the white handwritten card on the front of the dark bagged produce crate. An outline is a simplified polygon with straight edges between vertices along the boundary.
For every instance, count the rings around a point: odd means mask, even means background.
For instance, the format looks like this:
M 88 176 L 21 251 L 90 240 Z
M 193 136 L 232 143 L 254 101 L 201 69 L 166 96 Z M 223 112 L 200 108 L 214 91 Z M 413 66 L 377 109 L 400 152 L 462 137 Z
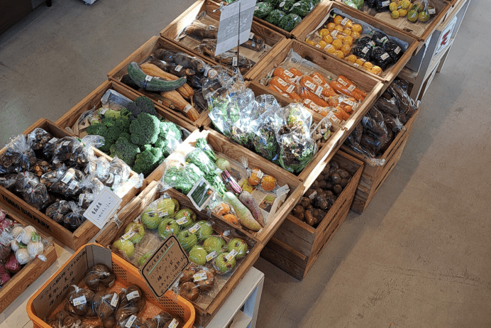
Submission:
M 121 202 L 123 199 L 119 198 L 109 187 L 104 187 L 84 212 L 84 217 L 102 229 L 106 222 L 113 217 Z

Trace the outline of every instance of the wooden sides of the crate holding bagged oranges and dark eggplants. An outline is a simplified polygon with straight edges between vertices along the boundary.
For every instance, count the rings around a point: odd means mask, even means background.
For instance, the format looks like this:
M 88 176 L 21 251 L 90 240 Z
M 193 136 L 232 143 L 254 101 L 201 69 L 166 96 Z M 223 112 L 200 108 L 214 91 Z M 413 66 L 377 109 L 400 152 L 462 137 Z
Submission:
M 399 60 L 397 60 L 395 65 L 392 65 L 389 68 L 387 68 L 387 70 L 382 72 L 380 76 L 368 72 L 363 67 L 360 66 L 356 67 L 352 65 L 358 70 L 367 73 L 371 77 L 375 77 L 376 79 L 382 80 L 382 82 L 384 82 L 386 85 L 390 84 L 390 82 L 392 82 L 392 80 L 394 80 L 395 77 L 397 77 L 400 70 L 402 70 L 402 67 L 404 67 L 404 65 L 406 65 L 409 59 L 411 59 L 411 57 L 415 54 L 416 49 L 419 46 L 419 40 L 417 40 L 416 38 L 407 35 L 407 33 L 402 33 L 396 28 L 393 28 L 390 25 L 382 23 L 381 21 L 378 21 L 373 17 L 363 16 L 360 13 L 360 11 L 353 9 L 350 6 L 344 6 L 343 4 L 339 4 L 338 2 L 329 1 L 329 2 L 322 2 L 321 4 L 319 4 L 319 6 L 316 7 L 316 9 L 314 9 L 314 11 L 315 11 L 315 15 L 309 18 L 309 21 L 305 23 L 302 31 L 294 33 L 294 37 L 297 40 L 304 42 L 305 39 L 307 38 L 307 35 L 309 35 L 309 33 L 311 33 L 312 31 L 318 31 L 319 28 L 321 28 L 321 26 L 325 25 L 329 16 L 331 16 L 331 13 L 336 12 L 343 17 L 346 16 L 351 17 L 353 23 L 358 23 L 360 21 L 368 23 L 373 28 L 377 28 L 377 30 L 382 31 L 389 36 L 398 38 L 399 40 L 402 40 L 409 45 L 407 50 L 404 52 L 402 57 L 399 58 Z M 309 45 L 308 43 L 306 44 Z M 309 46 L 315 48 L 313 45 L 309 45 Z M 335 58 L 336 60 L 341 60 L 336 55 L 332 55 L 332 54 L 328 54 L 328 55 L 331 56 L 332 58 Z M 343 62 L 347 62 L 347 61 L 343 60 Z

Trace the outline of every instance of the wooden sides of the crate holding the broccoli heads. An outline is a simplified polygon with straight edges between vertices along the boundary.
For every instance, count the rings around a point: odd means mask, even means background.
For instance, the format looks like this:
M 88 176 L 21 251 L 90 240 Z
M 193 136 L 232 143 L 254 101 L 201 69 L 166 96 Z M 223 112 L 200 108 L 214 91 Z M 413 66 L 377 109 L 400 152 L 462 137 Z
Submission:
M 79 102 L 72 109 L 70 109 L 70 111 L 67 111 L 65 115 L 60 117 L 60 119 L 56 121 L 57 126 L 61 126 L 62 128 L 73 126 L 73 124 L 75 124 L 79 116 L 84 111 L 93 109 L 94 106 L 95 108 L 99 108 L 101 106 L 101 97 L 108 89 L 113 89 L 114 91 L 123 94 L 123 96 L 131 100 L 140 97 L 140 94 L 138 94 L 138 92 L 134 91 L 133 89 L 130 89 L 129 87 L 126 87 L 126 85 L 124 84 L 119 84 L 118 82 L 114 82 L 114 80 L 103 82 L 87 97 L 82 99 L 81 102 Z M 170 111 L 169 109 L 165 109 L 165 107 L 163 107 L 160 104 L 155 104 L 155 110 L 157 111 L 157 114 L 167 119 L 167 121 L 171 121 L 172 123 L 182 126 L 184 129 L 187 129 L 189 132 L 192 132 L 197 129 L 196 126 L 185 121 L 182 116 L 175 114 L 175 112 Z M 160 164 L 158 168 L 153 170 L 153 172 L 150 173 L 148 177 L 145 178 L 145 180 L 143 181 L 143 188 L 154 180 L 160 180 L 160 177 L 162 177 L 162 170 L 160 169 L 161 165 L 162 164 Z

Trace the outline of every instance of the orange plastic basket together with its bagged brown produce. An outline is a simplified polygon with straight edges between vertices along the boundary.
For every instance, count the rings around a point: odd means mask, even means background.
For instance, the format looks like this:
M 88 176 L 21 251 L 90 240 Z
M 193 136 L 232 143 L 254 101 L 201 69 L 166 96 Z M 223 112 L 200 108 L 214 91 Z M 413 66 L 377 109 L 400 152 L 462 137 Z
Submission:
M 156 298 L 136 268 L 98 244 L 79 248 L 31 297 L 27 313 L 36 328 L 192 328 L 195 317 L 190 302 L 171 291 Z

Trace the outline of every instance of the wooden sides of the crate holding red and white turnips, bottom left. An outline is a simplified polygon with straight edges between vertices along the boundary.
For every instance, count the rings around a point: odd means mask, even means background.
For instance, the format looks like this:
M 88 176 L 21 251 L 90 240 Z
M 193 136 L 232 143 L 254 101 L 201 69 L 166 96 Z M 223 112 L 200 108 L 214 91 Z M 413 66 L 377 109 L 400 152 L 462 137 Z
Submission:
M 28 226 L 31 223 L 24 219 L 23 216 L 13 214 L 13 212 L 7 211 L 3 207 L 0 207 L 2 211 L 7 214 L 7 217 L 15 222 Z M 42 232 L 38 232 L 43 238 L 47 238 Z M 48 268 L 56 261 L 57 255 L 55 245 L 51 245 L 46 248 L 43 253 L 46 256 L 46 262 L 41 261 L 39 258 L 27 263 L 18 273 L 0 288 L 0 313 L 9 307 L 9 305 L 16 300 L 16 298 L 26 290 L 31 283 L 39 278 L 40 275 L 48 270 Z

